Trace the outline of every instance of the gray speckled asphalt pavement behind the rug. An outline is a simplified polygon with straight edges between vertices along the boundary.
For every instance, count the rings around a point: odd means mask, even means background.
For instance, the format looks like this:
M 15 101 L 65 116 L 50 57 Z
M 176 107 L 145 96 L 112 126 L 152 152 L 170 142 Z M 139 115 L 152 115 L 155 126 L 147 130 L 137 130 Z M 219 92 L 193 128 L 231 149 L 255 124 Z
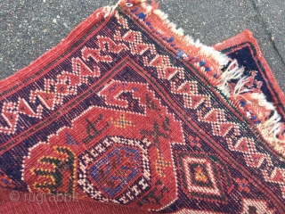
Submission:
M 0 79 L 61 42 L 94 10 L 117 0 L 0 0 Z M 214 45 L 244 29 L 254 36 L 285 92 L 284 0 L 161 0 L 186 34 Z

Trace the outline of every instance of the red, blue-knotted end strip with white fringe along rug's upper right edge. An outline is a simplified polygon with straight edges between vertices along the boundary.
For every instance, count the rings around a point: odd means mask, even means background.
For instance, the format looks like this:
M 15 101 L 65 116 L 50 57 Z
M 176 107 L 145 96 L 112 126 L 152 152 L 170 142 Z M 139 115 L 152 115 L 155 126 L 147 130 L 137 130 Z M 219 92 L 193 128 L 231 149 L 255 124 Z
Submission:
M 144 22 L 153 34 L 161 37 L 175 49 L 176 59 L 191 62 L 208 78 L 211 85 L 217 86 L 232 100 L 236 108 L 256 124 L 260 135 L 265 137 L 277 152 L 284 154 L 285 123 L 281 120 L 280 112 L 276 111 L 279 103 L 274 103 L 274 106 L 268 102 L 260 90 L 262 83 L 255 80 L 255 71 L 248 75 L 236 60 L 231 61 L 221 53 L 200 44 L 199 40 L 194 42 L 188 35 L 184 36 L 183 29 L 176 29 L 176 25 L 167 20 L 167 14 L 158 10 L 158 5 L 154 1 L 152 1 L 152 6 L 148 5 L 145 0 L 126 2 L 126 6 L 131 7 L 130 11 Z M 163 24 L 161 21 L 164 21 Z M 253 37 L 249 31 L 246 34 L 248 37 Z M 174 37 L 168 38 L 169 35 L 175 35 L 175 41 Z M 259 52 L 258 55 L 261 56 L 261 53 Z M 226 67 L 224 72 L 220 70 L 223 67 Z M 271 79 L 274 79 L 273 76 Z M 232 80 L 236 84 L 230 84 Z M 280 89 L 278 91 L 281 92 Z

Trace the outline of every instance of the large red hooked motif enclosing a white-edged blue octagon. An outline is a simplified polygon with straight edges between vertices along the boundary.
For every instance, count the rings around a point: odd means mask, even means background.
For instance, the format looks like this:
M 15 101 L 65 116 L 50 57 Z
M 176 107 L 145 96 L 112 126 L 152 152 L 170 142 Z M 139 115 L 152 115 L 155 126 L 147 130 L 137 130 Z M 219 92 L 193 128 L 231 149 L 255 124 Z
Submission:
M 45 153 L 50 158 L 39 159 L 43 161 L 45 169 L 64 169 L 61 175 L 65 181 L 69 181 L 67 177 L 71 174 L 65 170 L 65 164 L 61 164 L 64 154 L 51 151 L 53 145 L 61 144 L 75 152 L 75 184 L 82 196 L 101 202 L 132 203 L 148 209 L 159 209 L 175 202 L 177 194 L 170 190 L 175 189 L 177 184 L 168 182 L 175 180 L 168 148 L 169 142 L 183 142 L 181 121 L 167 111 L 147 84 L 112 79 L 109 84 L 104 84 L 97 95 L 104 96 L 105 103 L 111 103 L 111 106 L 131 106 L 130 98 L 122 99 L 120 96 L 126 92 L 131 92 L 132 98 L 138 101 L 142 113 L 90 106 L 73 120 L 71 128 L 61 128 L 57 134 L 48 137 L 47 143 L 40 142 L 30 148 L 22 174 L 25 182 L 33 185 L 37 181 L 39 185 L 35 187 L 43 188 L 46 180 L 50 183 L 51 191 L 60 192 L 58 187 L 66 191 L 68 183 L 61 186 L 60 179 L 53 183 L 53 176 L 43 179 L 39 175 L 31 175 L 29 170 L 34 167 L 37 174 L 47 174 L 38 169 L 37 161 L 37 154 Z M 149 121 L 150 126 L 140 122 L 143 119 Z M 120 126 L 121 122 L 125 128 Z M 78 132 L 80 135 L 77 135 Z M 159 144 L 162 145 L 160 148 Z M 58 166 L 53 169 L 53 164 L 48 165 L 47 161 L 55 162 Z M 28 187 L 32 191 L 39 191 L 34 186 Z

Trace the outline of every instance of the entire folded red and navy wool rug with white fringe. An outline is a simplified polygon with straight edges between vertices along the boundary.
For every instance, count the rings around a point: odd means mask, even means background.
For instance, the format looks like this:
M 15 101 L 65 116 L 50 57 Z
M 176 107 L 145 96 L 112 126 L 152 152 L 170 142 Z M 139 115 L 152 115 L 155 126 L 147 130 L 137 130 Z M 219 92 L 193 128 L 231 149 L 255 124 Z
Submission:
M 120 1 L 1 80 L 2 210 L 284 213 L 284 95 L 250 32 L 214 47 Z

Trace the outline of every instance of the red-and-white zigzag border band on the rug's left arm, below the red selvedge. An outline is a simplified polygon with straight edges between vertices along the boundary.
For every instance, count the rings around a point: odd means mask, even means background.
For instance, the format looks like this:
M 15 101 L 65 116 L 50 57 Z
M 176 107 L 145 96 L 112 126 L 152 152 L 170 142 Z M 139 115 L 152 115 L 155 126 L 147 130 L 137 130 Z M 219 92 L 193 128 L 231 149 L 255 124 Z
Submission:
M 98 49 L 82 48 L 81 60 L 79 57 L 71 59 L 72 71 L 68 72 L 62 70 L 61 74 L 56 76 L 56 79 L 45 79 L 45 88 L 31 90 L 29 93 L 29 101 L 36 103 L 38 99 L 40 104 L 37 105 L 37 111 L 33 111 L 23 98 L 19 97 L 16 103 L 4 103 L 0 117 L 4 118 L 4 121 L 9 127 L 3 127 L 0 125 L 0 133 L 12 134 L 16 131 L 19 113 L 26 114 L 29 117 L 36 117 L 41 119 L 44 106 L 46 109 L 54 110 L 56 104 L 62 105 L 63 98 L 68 95 L 77 95 L 77 86 L 81 86 L 82 83 L 87 83 L 88 77 L 99 77 L 101 71 L 97 66 L 89 68 L 87 63 L 89 58 L 94 60 L 100 60 L 105 62 L 112 62 L 110 55 L 101 55 L 100 51 L 105 51 L 108 46 L 108 51 L 112 53 L 119 53 L 122 50 L 126 50 L 126 45 L 116 45 L 108 37 L 98 37 Z M 52 89 L 53 88 L 53 89 Z

